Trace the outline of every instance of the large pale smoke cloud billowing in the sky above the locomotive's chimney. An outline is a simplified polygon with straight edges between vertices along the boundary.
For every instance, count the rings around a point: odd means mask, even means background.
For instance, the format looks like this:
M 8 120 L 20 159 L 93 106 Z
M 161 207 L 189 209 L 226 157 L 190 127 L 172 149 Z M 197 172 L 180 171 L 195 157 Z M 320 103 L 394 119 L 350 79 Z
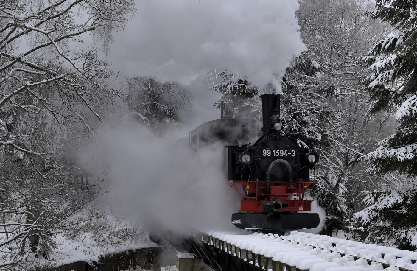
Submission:
M 306 49 L 297 0 L 136 0 L 136 7 L 136 18 L 114 34 L 110 57 L 126 76 L 189 85 L 205 68 L 227 68 L 264 86 Z

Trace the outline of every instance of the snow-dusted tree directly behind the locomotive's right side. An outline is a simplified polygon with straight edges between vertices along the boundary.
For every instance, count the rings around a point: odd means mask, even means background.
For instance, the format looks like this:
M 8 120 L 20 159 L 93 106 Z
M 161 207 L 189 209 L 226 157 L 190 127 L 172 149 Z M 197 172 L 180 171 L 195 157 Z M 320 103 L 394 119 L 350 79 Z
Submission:
M 323 76 L 314 76 L 318 72 Z M 320 153 L 320 162 L 310 177 L 319 183 L 313 196 L 326 211 L 324 232 L 332 234 L 346 226 L 346 173 L 357 163 L 358 151 L 355 146 L 344 148 L 349 137 L 344 129 L 347 115 L 343 100 L 335 97 L 336 82 L 327 74 L 314 55 L 297 58 L 284 78 L 281 120 L 286 130 L 299 133 L 299 146 Z

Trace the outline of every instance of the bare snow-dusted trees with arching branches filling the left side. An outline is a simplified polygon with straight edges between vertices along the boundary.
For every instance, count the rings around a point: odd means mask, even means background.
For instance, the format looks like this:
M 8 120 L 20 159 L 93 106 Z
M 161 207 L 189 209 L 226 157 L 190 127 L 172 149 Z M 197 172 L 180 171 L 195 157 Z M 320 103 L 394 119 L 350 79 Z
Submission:
M 1 4 L 0 269 L 30 253 L 47 259 L 54 234 L 98 195 L 102 177 L 75 153 L 120 94 L 100 55 L 134 9 L 130 0 Z M 84 40 L 92 46 L 76 46 Z

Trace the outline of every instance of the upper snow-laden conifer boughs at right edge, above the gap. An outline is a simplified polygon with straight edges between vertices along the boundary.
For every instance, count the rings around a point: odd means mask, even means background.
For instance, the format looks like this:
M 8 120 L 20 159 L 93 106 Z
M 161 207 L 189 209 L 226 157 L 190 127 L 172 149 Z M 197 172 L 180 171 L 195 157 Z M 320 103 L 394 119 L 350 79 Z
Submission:
M 371 113 L 396 111 L 395 133 L 379 142 L 377 150 L 364 156 L 372 173 L 398 171 L 417 176 L 417 2 L 378 0 L 367 12 L 371 19 L 390 23 L 394 31 L 359 58 L 371 74 L 364 80 L 373 101 Z

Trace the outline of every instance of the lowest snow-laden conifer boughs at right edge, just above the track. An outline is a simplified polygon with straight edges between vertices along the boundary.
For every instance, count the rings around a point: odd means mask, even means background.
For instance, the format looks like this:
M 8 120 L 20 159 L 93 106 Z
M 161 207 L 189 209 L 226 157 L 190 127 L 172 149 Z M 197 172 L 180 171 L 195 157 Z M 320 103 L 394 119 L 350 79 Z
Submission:
M 414 250 L 417 246 L 417 189 L 367 192 L 367 208 L 354 219 L 374 243 Z

